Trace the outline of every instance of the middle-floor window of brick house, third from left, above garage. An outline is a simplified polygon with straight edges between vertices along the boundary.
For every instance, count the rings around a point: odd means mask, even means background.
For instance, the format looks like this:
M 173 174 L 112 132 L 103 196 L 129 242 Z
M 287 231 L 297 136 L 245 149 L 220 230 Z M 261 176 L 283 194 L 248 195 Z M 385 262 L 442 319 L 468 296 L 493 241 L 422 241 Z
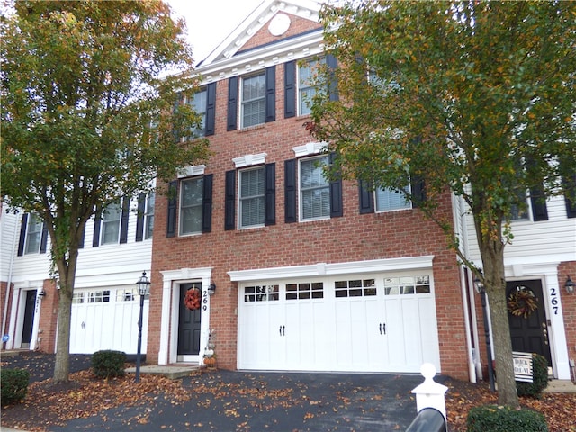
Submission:
M 301 220 L 330 217 L 330 184 L 323 172 L 328 163 L 328 156 L 300 160 Z

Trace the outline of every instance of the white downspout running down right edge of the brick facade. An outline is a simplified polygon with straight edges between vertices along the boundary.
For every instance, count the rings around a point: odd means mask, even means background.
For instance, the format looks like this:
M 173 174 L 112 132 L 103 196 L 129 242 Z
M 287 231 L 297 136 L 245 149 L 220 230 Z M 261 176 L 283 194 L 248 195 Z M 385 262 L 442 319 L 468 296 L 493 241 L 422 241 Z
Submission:
M 465 212 L 462 209 L 463 200 L 457 198 L 455 194 L 452 194 L 452 208 L 453 208 L 453 217 L 455 220 L 455 227 L 457 227 L 458 234 L 461 235 L 459 248 L 462 251 L 464 257 L 468 257 L 468 235 L 466 232 L 466 218 Z M 471 323 L 470 313 L 472 312 L 472 320 L 475 322 L 476 320 L 476 312 L 474 309 L 469 308 L 468 302 L 468 293 L 467 288 L 469 284 L 466 283 L 466 279 L 468 278 L 468 272 L 466 272 L 465 267 L 460 265 L 460 288 L 461 288 L 461 295 L 462 295 L 462 308 L 464 311 L 464 329 L 466 333 L 466 351 L 468 356 L 468 374 L 470 376 L 471 383 L 476 383 L 477 375 L 476 375 L 476 367 L 474 364 L 474 356 L 473 356 L 473 347 L 472 347 L 472 338 L 471 338 Z M 478 339 L 476 339 L 478 340 Z

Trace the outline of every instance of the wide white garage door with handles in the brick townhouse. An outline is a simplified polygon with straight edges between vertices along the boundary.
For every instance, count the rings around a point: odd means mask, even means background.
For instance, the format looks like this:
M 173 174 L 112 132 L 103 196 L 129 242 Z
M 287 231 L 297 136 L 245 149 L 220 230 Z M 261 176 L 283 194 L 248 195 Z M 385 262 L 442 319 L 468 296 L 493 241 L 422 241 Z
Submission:
M 430 275 L 353 275 L 239 287 L 238 368 L 440 370 Z

